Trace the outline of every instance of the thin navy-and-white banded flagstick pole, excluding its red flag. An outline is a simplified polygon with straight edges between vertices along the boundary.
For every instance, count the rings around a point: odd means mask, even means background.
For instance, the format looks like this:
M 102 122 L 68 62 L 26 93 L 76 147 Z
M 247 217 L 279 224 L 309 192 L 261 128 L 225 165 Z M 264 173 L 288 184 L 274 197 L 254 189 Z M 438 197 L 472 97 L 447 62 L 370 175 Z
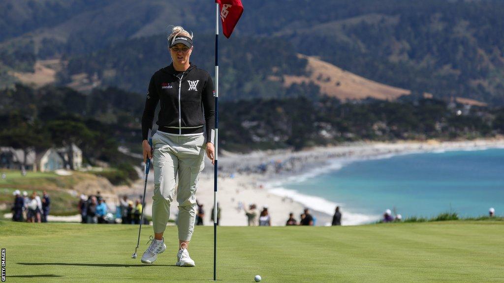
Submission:
M 215 163 L 214 163 L 214 281 L 217 280 L 217 138 L 219 125 L 219 3 L 215 3 Z

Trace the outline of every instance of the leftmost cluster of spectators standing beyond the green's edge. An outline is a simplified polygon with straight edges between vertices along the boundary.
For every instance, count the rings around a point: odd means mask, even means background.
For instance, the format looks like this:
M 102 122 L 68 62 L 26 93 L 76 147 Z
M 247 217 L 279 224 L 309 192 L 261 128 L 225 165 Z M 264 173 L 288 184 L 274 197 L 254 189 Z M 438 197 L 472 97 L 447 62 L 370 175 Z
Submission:
M 36 191 L 33 191 L 30 196 L 28 192 L 15 190 L 14 205 L 12 206 L 12 220 L 16 222 L 47 222 L 51 199 L 47 191 L 43 191 L 40 197 Z

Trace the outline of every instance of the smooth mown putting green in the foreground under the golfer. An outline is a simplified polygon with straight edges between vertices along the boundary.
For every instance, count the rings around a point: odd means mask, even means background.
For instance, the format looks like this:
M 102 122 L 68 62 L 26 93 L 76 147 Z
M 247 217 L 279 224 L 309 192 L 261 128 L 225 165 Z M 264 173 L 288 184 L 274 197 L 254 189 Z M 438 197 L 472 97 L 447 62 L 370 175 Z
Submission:
M 175 266 L 176 227 L 153 265 L 152 227 L 0 221 L 7 282 L 209 282 L 213 227 L 196 227 L 196 267 Z M 220 227 L 220 282 L 504 282 L 504 223 L 454 221 L 353 227 Z

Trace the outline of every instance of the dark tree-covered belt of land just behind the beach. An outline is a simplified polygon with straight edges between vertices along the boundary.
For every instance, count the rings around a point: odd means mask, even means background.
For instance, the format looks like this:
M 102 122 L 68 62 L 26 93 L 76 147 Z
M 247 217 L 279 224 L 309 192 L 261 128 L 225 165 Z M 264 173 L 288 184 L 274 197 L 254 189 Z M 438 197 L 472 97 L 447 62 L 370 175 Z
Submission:
M 251 68 L 250 73 L 253 72 Z M 351 80 L 360 80 L 369 89 L 376 86 L 383 90 L 383 94 L 396 90 L 342 74 L 348 79 L 340 81 L 343 87 L 352 84 Z M 281 80 L 271 83 L 276 87 Z M 303 82 L 287 89 L 290 95 L 303 94 L 303 86 L 308 91 L 319 89 Z M 363 103 L 342 103 L 330 96 L 251 96 L 241 100 L 230 97 L 219 106 L 220 124 L 225 128 L 220 140 L 230 151 L 249 152 L 299 150 L 358 140 L 473 139 L 504 133 L 501 107 L 483 107 L 484 104 L 467 99 L 453 102 L 412 95 L 394 101 L 367 97 Z M 4 126 L 0 143 L 43 150 L 73 140 L 83 150 L 87 163 L 101 160 L 118 166 L 124 158 L 117 147 L 138 146 L 144 103 L 142 95 L 117 88 L 80 93 L 67 87 L 32 89 L 17 85 L 15 90 L 0 91 L 0 122 Z M 471 103 L 473 106 L 466 105 Z

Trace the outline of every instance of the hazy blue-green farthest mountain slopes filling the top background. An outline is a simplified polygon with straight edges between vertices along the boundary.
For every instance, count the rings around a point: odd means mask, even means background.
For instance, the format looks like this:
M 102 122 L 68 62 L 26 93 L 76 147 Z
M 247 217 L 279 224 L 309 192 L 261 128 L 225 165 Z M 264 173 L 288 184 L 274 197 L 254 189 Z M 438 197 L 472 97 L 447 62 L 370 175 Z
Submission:
M 307 5 L 310 9 L 300 9 Z M 118 45 L 165 32 L 169 24 L 182 24 L 197 37 L 212 34 L 214 27 L 213 5 L 201 5 L 196 0 L 183 6 L 164 0 L 9 0 L 0 8 L 0 87 L 12 86 L 18 80 L 12 72 L 33 72 L 41 59 L 72 61 L 115 52 Z M 414 95 L 430 93 L 447 100 L 463 97 L 504 105 L 504 37 L 499 33 L 504 30 L 503 11 L 504 2 L 498 0 L 260 0 L 245 4 L 233 38 L 221 46 L 227 48 L 236 39 L 270 39 L 275 43 L 241 46 L 264 50 L 251 52 L 251 60 L 262 62 L 261 56 L 274 56 L 281 46 L 290 43 L 293 54 L 318 56 L 365 79 L 410 90 Z M 211 42 L 199 46 L 212 48 Z M 229 48 L 228 54 L 243 54 L 245 50 Z M 208 54 L 209 63 L 203 66 L 211 67 L 212 52 Z M 115 64 L 116 68 L 139 68 L 133 62 L 119 66 L 121 62 L 116 60 Z M 232 72 L 226 73 L 226 61 L 221 65 L 222 73 L 232 77 L 226 91 L 233 93 L 233 99 L 248 98 L 252 93 L 283 97 L 288 92 L 278 84 L 265 87 L 273 95 L 265 90 L 250 92 L 259 79 L 246 87 L 245 81 L 233 86 L 231 81 L 235 76 L 240 79 L 237 74 L 247 74 L 249 66 L 233 65 Z M 86 72 L 70 70 L 73 75 Z M 92 80 L 93 75 L 77 79 Z M 264 75 L 260 78 L 264 80 Z M 66 80 L 65 84 L 70 79 Z M 98 80 L 103 85 L 117 85 Z M 145 80 L 135 76 L 119 87 L 143 91 L 140 86 Z M 310 96 L 318 93 L 312 87 L 308 89 L 304 87 L 302 92 L 308 91 Z

